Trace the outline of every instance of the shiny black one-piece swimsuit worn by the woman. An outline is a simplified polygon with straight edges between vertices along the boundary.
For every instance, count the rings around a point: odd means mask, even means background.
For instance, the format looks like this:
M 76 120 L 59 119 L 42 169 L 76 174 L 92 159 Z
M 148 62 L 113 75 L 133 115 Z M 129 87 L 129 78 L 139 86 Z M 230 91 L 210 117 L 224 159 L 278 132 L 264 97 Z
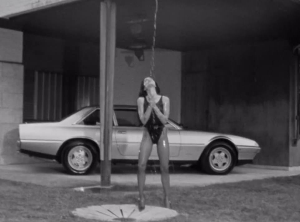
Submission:
M 144 99 L 144 112 L 146 112 L 147 108 L 149 106 L 149 103 L 145 97 Z M 158 109 L 163 113 L 163 104 L 162 104 L 162 96 L 157 102 L 156 106 Z M 162 135 L 162 130 L 165 127 L 164 124 L 160 121 L 160 119 L 157 117 L 156 113 L 154 110 L 152 110 L 151 115 L 145 124 L 145 127 L 147 128 L 151 140 L 153 144 L 157 144 L 160 136 Z

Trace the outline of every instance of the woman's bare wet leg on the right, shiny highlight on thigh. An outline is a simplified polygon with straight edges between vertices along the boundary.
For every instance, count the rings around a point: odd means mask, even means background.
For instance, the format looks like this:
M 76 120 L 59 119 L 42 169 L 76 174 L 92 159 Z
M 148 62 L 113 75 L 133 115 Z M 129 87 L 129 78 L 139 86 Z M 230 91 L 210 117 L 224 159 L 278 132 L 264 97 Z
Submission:
M 169 175 L 169 155 L 170 147 L 167 137 L 167 129 L 164 128 L 162 135 L 157 144 L 157 154 L 160 162 L 160 171 L 162 176 L 162 187 L 164 191 L 164 204 L 165 207 L 170 208 L 169 196 L 170 196 L 170 175 Z

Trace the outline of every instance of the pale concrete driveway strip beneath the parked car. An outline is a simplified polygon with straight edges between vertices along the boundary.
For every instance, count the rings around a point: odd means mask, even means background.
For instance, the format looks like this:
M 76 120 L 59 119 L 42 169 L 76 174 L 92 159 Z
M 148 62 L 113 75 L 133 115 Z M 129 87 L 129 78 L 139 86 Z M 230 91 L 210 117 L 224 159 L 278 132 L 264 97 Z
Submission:
M 158 170 L 158 168 L 157 168 Z M 112 184 L 137 185 L 137 167 L 116 165 L 112 167 Z M 235 167 L 224 176 L 213 176 L 199 173 L 190 167 L 170 168 L 171 186 L 206 186 L 216 183 L 237 182 L 264 179 L 277 176 L 299 175 L 300 171 L 266 170 L 251 167 Z M 100 185 L 100 169 L 92 175 L 72 176 L 65 173 L 56 162 L 41 162 L 21 165 L 0 166 L 0 179 L 30 182 L 50 187 L 81 187 Z M 160 174 L 154 168 L 148 170 L 147 185 L 160 185 Z

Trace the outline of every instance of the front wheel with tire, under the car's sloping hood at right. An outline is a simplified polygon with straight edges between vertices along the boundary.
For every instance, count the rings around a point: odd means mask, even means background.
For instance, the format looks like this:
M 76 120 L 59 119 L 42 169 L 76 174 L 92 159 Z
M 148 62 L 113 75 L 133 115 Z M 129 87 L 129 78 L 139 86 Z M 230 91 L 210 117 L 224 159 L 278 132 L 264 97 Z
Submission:
M 211 143 L 203 152 L 200 165 L 208 174 L 228 174 L 235 166 L 237 155 L 234 148 L 226 142 Z

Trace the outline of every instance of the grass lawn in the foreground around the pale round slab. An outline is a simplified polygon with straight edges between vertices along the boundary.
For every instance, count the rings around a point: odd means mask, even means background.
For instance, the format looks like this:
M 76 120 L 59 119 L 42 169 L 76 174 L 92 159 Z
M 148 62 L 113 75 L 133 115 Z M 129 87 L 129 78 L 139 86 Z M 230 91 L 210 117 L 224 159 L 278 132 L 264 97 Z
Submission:
M 0 180 L 1 222 L 94 222 L 70 214 L 75 208 L 137 203 L 137 187 L 78 192 Z M 300 176 L 206 187 L 172 187 L 172 207 L 182 215 L 169 221 L 300 221 Z M 147 186 L 147 205 L 162 204 L 162 188 Z

